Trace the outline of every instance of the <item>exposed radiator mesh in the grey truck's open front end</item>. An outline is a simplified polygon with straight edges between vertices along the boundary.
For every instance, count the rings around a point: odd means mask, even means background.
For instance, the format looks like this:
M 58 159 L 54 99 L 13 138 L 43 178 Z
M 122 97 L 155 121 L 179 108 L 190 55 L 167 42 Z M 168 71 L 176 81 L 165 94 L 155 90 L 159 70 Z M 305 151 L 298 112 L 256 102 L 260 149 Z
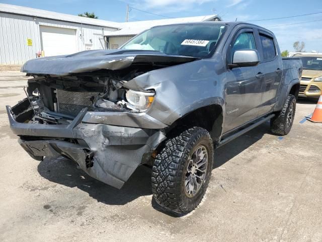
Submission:
M 58 111 L 60 113 L 76 116 L 83 108 L 93 110 L 93 100 L 99 92 L 69 92 L 56 90 Z

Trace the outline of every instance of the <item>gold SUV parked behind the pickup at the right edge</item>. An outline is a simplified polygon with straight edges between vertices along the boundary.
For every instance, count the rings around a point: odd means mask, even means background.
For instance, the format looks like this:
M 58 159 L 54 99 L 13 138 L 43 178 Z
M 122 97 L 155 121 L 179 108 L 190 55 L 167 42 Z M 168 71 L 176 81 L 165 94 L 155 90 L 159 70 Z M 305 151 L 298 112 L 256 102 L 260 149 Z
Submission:
M 319 97 L 322 90 L 322 54 L 295 54 L 303 64 L 299 96 Z

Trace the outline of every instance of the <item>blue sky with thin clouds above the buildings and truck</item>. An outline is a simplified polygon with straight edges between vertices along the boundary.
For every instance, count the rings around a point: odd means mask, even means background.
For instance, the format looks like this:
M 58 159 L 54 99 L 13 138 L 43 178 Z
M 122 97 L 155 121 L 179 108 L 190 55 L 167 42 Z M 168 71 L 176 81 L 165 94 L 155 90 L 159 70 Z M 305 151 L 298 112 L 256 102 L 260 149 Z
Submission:
M 168 17 L 219 14 L 224 21 L 251 21 L 322 12 L 322 0 L 0 0 L 0 3 L 77 15 L 94 12 L 100 19 L 124 22 L 126 5 Z M 132 9 L 130 21 L 162 19 Z M 317 21 L 320 20 L 320 21 Z M 296 25 L 268 27 L 317 21 Z M 252 22 L 268 27 L 277 36 L 281 50 L 293 51 L 294 41 L 304 41 L 305 50 L 322 52 L 322 13 L 295 18 Z

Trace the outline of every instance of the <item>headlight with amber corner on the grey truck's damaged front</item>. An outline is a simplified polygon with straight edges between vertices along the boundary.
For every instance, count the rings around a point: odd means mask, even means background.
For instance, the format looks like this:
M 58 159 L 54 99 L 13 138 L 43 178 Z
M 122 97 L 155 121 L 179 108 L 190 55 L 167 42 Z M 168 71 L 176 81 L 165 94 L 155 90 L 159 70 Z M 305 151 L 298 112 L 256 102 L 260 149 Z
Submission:
M 126 106 L 135 111 L 145 111 L 152 104 L 154 95 L 155 93 L 151 91 L 139 92 L 127 90 L 125 96 L 128 104 Z

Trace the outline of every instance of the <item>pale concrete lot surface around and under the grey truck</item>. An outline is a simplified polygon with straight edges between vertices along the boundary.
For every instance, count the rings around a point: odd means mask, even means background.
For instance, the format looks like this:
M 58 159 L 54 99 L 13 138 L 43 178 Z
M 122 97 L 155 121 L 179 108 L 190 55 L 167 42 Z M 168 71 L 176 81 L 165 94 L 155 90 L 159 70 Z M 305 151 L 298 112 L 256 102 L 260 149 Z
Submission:
M 25 84 L 0 72 L 0 241 L 322 241 L 322 124 L 303 122 L 316 101 L 298 101 L 283 138 L 265 123 L 216 150 L 204 201 L 174 217 L 151 203 L 146 167 L 117 190 L 67 159 L 29 157 L 5 110 Z

